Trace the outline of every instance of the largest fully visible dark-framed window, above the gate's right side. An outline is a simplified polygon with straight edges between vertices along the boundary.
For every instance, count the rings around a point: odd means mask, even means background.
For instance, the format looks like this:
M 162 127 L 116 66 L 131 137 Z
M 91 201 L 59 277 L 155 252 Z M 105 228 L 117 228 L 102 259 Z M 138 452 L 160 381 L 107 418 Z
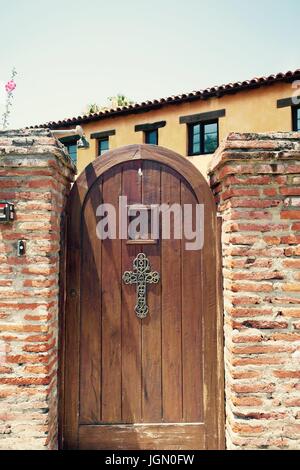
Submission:
M 189 124 L 189 155 L 214 153 L 219 145 L 218 121 Z

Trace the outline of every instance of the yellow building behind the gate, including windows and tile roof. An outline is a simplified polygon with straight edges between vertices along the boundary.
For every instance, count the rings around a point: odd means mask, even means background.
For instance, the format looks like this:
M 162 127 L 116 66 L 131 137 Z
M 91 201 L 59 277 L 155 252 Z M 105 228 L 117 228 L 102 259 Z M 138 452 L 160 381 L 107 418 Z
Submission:
M 298 131 L 299 88 L 300 70 L 296 70 L 50 122 L 42 127 L 55 130 L 82 126 L 88 148 L 77 149 L 79 136 L 61 139 L 78 173 L 107 150 L 148 143 L 186 156 L 206 175 L 213 153 L 230 132 Z

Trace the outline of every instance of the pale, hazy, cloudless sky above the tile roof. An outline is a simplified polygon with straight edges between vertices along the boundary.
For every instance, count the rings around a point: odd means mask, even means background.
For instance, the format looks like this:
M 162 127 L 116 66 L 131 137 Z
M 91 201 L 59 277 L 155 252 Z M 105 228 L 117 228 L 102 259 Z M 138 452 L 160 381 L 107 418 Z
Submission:
M 0 0 L 10 127 L 295 70 L 299 18 L 299 0 Z

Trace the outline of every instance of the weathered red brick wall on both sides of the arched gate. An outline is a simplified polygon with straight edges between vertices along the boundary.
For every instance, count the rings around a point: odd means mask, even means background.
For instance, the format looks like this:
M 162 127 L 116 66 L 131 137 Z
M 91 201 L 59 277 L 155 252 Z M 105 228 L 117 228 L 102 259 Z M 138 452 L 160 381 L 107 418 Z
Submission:
M 0 449 L 57 446 L 60 226 L 68 157 L 0 132 Z M 300 134 L 231 134 L 211 183 L 223 218 L 227 446 L 300 448 Z M 17 256 L 17 241 L 26 256 Z

